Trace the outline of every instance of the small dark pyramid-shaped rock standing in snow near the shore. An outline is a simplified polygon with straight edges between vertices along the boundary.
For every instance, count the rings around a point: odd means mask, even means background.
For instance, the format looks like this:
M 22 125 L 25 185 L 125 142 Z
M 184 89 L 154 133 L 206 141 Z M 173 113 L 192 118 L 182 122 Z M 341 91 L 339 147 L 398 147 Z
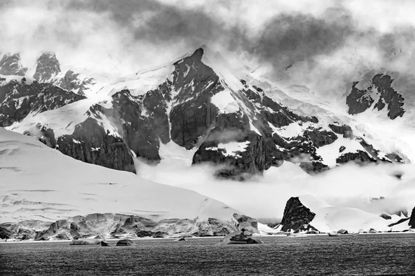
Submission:
M 281 225 L 282 231 L 288 230 L 299 231 L 305 230 L 308 224 L 314 219 L 315 213 L 311 212 L 306 206 L 299 201 L 298 197 L 288 199 L 284 209 Z

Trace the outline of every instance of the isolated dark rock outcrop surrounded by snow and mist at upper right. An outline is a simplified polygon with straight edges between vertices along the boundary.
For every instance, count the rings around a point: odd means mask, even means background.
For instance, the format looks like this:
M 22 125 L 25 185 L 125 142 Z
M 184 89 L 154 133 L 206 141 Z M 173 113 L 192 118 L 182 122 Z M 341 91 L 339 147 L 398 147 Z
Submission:
M 394 88 L 391 87 L 394 79 L 389 75 L 378 74 L 371 79 L 371 86 L 365 90 L 356 88 L 358 81 L 353 82 L 350 94 L 346 98 L 349 106 L 349 114 L 364 112 L 374 103 L 374 98 L 378 95 L 378 101 L 373 109 L 382 110 L 387 107 L 387 116 L 390 119 L 403 117 L 404 99 Z

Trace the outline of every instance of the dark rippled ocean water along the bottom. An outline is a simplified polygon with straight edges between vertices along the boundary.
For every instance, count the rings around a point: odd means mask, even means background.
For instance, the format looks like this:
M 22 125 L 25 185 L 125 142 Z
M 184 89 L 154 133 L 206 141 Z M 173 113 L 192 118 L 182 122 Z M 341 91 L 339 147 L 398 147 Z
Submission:
M 140 239 L 136 246 L 2 243 L 0 275 L 415 275 L 415 235 Z M 116 241 L 110 241 L 111 245 Z

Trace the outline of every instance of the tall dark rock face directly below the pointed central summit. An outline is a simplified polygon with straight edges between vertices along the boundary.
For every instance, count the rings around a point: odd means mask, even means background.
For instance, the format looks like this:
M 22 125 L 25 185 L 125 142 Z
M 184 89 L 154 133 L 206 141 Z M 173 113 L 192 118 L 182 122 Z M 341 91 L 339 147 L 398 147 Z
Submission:
M 199 137 L 214 124 L 217 108 L 210 98 L 224 90 L 216 73 L 202 61 L 203 49 L 174 63 L 172 100 L 176 103 L 170 112 L 172 140 L 179 146 L 193 148 Z

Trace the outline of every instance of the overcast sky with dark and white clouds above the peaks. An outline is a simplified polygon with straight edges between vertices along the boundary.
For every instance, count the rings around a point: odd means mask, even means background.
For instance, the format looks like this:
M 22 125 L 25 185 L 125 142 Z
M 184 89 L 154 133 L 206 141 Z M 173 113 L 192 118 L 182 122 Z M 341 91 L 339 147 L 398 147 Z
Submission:
M 409 63 L 388 55 L 413 61 L 414 10 L 410 0 L 3 0 L 0 50 L 27 60 L 54 51 L 64 67 L 96 77 L 126 75 L 203 44 L 275 68 L 387 63 L 402 70 Z M 353 53 L 364 59 L 350 64 Z

